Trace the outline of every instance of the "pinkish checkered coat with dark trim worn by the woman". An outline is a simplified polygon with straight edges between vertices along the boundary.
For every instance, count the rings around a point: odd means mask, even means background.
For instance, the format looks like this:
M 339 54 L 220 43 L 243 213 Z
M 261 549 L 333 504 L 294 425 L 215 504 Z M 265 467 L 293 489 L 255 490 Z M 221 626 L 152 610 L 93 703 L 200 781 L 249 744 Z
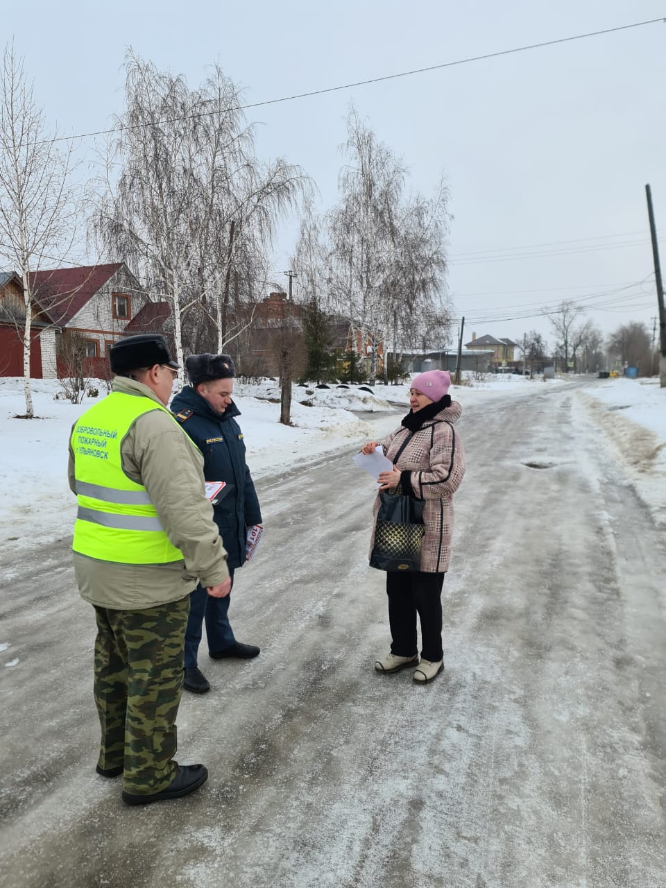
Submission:
M 380 441 L 385 456 L 393 461 L 405 440 L 408 440 L 398 462 L 394 463 L 403 472 L 395 492 L 425 501 L 421 570 L 426 574 L 443 574 L 448 570 L 453 534 L 453 495 L 463 480 L 465 468 L 463 442 L 453 428 L 461 412 L 460 404 L 452 401 L 433 419 L 426 420 L 418 431 L 409 432 L 400 426 Z M 379 502 L 377 496 L 375 519 Z M 370 552 L 374 544 L 373 525 Z

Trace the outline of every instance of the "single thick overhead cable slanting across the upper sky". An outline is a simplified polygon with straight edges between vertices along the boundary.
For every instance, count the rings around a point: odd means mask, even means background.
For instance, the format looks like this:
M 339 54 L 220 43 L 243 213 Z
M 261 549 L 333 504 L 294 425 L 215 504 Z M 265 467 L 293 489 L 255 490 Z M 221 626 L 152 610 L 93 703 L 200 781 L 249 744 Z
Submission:
M 499 50 L 498 52 L 486 52 L 483 55 L 478 56 L 468 56 L 465 59 L 456 59 L 455 61 L 446 61 L 442 62 L 440 65 L 430 65 L 428 67 L 418 67 L 414 68 L 411 71 L 400 71 L 399 74 L 387 74 L 382 77 L 372 77 L 369 80 L 358 80 L 355 83 L 343 83 L 340 86 L 329 86 L 322 90 L 312 90 L 309 92 L 298 92 L 291 96 L 282 96 L 281 99 L 265 99 L 260 102 L 250 102 L 247 105 L 237 105 L 231 108 L 225 108 L 225 111 L 245 111 L 248 108 L 257 108 L 264 107 L 266 105 L 277 105 L 281 102 L 290 102 L 295 99 L 309 99 L 312 96 L 321 96 L 328 92 L 338 92 L 340 90 L 351 90 L 356 86 L 368 86 L 370 83 L 383 83 L 386 80 L 396 80 L 399 77 L 409 77 L 415 74 L 425 74 L 428 71 L 440 71 L 445 67 L 455 67 L 456 65 L 468 65 L 475 61 L 484 61 L 485 59 L 498 59 L 502 56 L 511 55 L 515 52 L 527 52 L 527 50 L 538 50 L 543 49 L 546 46 L 556 46 L 558 44 L 567 44 L 571 43 L 574 40 L 584 40 L 587 37 L 598 37 L 605 34 L 614 34 L 617 31 L 627 31 L 630 28 L 642 28 L 645 25 L 654 25 L 657 22 L 666 22 L 666 19 L 647 19 L 645 21 L 634 21 L 630 25 L 619 25 L 617 28 L 603 28 L 599 31 L 588 31 L 585 34 L 573 34 L 568 37 L 559 37 L 555 40 L 544 40 L 538 44 L 527 44 L 525 46 L 515 46 L 509 50 Z M 207 104 L 208 102 L 217 101 L 217 99 L 205 99 L 202 101 L 203 104 Z M 175 123 L 180 120 L 194 120 L 197 117 L 205 117 L 211 114 L 215 114 L 215 111 L 202 111 L 198 114 L 192 115 L 182 115 L 178 117 L 169 117 L 162 121 L 153 121 L 152 123 L 135 123 L 132 126 L 116 126 L 111 127 L 108 130 L 98 130 L 95 132 L 84 132 L 80 133 L 77 136 L 56 136 L 54 139 L 43 139 L 40 142 L 37 142 L 37 145 L 44 145 L 45 143 L 52 142 L 67 142 L 73 141 L 74 139 L 90 139 L 92 136 L 106 136 L 112 132 L 119 132 L 121 130 L 138 130 L 142 129 L 146 126 L 155 126 L 162 125 L 163 123 Z

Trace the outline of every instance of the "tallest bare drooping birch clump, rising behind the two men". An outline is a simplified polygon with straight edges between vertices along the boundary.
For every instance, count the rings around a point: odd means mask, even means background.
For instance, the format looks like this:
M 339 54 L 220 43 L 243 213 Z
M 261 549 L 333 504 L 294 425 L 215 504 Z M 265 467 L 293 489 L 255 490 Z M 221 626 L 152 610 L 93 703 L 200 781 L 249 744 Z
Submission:
M 111 155 L 119 175 L 107 176 L 93 230 L 169 302 L 182 363 L 187 313 L 212 322 L 223 350 L 240 297 L 236 274 L 265 254 L 307 179 L 282 159 L 258 162 L 241 94 L 217 66 L 196 91 L 131 52 L 126 68 L 127 108 Z

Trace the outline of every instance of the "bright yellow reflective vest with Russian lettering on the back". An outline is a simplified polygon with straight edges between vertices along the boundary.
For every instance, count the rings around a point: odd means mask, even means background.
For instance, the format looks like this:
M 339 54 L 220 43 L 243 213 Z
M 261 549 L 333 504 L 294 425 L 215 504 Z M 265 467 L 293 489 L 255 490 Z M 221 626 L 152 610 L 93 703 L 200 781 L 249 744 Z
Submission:
M 183 559 L 169 542 L 147 489 L 123 472 L 120 449 L 125 435 L 139 416 L 152 410 L 163 410 L 172 418 L 150 398 L 111 392 L 75 424 L 71 437 L 78 500 L 75 552 L 116 564 Z M 179 425 L 178 429 L 185 434 Z

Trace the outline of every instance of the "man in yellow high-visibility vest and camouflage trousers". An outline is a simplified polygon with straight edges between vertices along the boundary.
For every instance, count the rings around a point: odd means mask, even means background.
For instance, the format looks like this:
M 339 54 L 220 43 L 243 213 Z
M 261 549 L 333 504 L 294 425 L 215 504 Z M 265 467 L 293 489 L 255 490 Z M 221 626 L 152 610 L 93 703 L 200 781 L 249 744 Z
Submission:
M 189 593 L 198 579 L 224 598 L 231 583 L 201 452 L 167 409 L 179 368 L 166 339 L 125 337 L 109 360 L 112 391 L 69 442 L 72 548 L 97 621 L 97 773 L 123 774 L 123 800 L 147 805 L 186 796 L 208 777 L 204 765 L 174 760 Z

